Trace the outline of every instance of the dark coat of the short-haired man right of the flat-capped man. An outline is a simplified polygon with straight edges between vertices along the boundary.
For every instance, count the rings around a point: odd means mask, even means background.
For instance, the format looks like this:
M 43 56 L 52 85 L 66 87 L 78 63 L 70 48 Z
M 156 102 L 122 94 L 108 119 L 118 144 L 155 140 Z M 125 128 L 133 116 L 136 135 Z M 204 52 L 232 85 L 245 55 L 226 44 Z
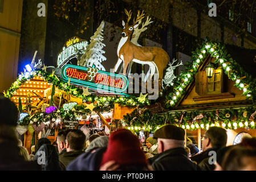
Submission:
M 213 171 L 215 168 L 215 165 L 209 163 L 210 157 L 213 156 L 213 155 L 209 155 L 210 151 L 215 151 L 217 153 L 218 148 L 216 147 L 208 148 L 208 150 L 202 152 L 201 154 L 194 155 L 190 159 L 196 162 L 198 166 L 202 169 L 202 171 Z

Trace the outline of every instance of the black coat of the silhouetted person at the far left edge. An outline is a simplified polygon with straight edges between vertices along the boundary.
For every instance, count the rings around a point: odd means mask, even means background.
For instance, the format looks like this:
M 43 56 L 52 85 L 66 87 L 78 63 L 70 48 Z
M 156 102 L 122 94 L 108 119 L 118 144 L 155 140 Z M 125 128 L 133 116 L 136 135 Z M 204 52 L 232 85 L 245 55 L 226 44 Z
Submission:
M 40 171 L 36 162 L 26 162 L 19 156 L 19 148 L 15 143 L 1 142 L 0 148 L 0 171 Z

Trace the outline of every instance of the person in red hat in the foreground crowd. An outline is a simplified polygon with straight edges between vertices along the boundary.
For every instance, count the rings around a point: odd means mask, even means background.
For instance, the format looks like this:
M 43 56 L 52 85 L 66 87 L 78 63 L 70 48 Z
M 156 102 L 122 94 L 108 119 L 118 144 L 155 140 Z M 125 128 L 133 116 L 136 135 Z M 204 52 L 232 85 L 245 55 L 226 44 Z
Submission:
M 139 139 L 127 129 L 117 130 L 110 135 L 100 166 L 100 170 L 149 169 Z

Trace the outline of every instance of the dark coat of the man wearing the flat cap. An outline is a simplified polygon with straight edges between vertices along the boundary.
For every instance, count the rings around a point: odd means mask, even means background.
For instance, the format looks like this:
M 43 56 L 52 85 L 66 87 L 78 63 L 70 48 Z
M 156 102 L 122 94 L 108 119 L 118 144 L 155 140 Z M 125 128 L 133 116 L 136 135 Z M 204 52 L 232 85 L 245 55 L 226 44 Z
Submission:
M 184 148 L 172 148 L 148 159 L 156 171 L 197 171 L 197 164 L 188 159 Z

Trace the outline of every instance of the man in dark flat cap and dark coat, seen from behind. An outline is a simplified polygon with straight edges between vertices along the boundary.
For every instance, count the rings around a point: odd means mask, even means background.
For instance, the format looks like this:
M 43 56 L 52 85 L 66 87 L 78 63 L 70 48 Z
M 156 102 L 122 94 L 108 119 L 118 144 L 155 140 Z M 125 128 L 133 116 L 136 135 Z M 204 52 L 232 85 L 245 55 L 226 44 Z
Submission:
M 197 171 L 197 164 L 188 159 L 185 151 L 185 131 L 174 125 L 162 126 L 155 132 L 159 154 L 148 159 L 156 171 Z

